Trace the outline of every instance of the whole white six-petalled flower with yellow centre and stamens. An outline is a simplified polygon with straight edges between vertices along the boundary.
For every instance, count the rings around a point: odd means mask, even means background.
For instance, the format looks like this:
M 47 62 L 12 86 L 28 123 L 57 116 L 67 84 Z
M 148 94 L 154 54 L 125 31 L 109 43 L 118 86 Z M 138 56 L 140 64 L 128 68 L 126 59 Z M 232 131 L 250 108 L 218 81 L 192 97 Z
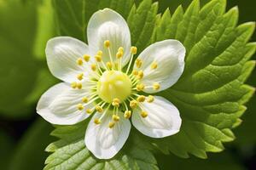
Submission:
M 177 108 L 145 93 L 160 92 L 177 82 L 184 68 L 183 44 L 172 39 L 155 42 L 131 68 L 137 48 L 131 47 L 125 20 L 109 8 L 92 15 L 87 35 L 89 45 L 72 37 L 55 37 L 47 43 L 49 71 L 63 82 L 42 95 L 38 114 L 59 125 L 73 125 L 92 115 L 84 141 L 100 159 L 117 154 L 131 122 L 152 138 L 177 133 L 182 122 Z

